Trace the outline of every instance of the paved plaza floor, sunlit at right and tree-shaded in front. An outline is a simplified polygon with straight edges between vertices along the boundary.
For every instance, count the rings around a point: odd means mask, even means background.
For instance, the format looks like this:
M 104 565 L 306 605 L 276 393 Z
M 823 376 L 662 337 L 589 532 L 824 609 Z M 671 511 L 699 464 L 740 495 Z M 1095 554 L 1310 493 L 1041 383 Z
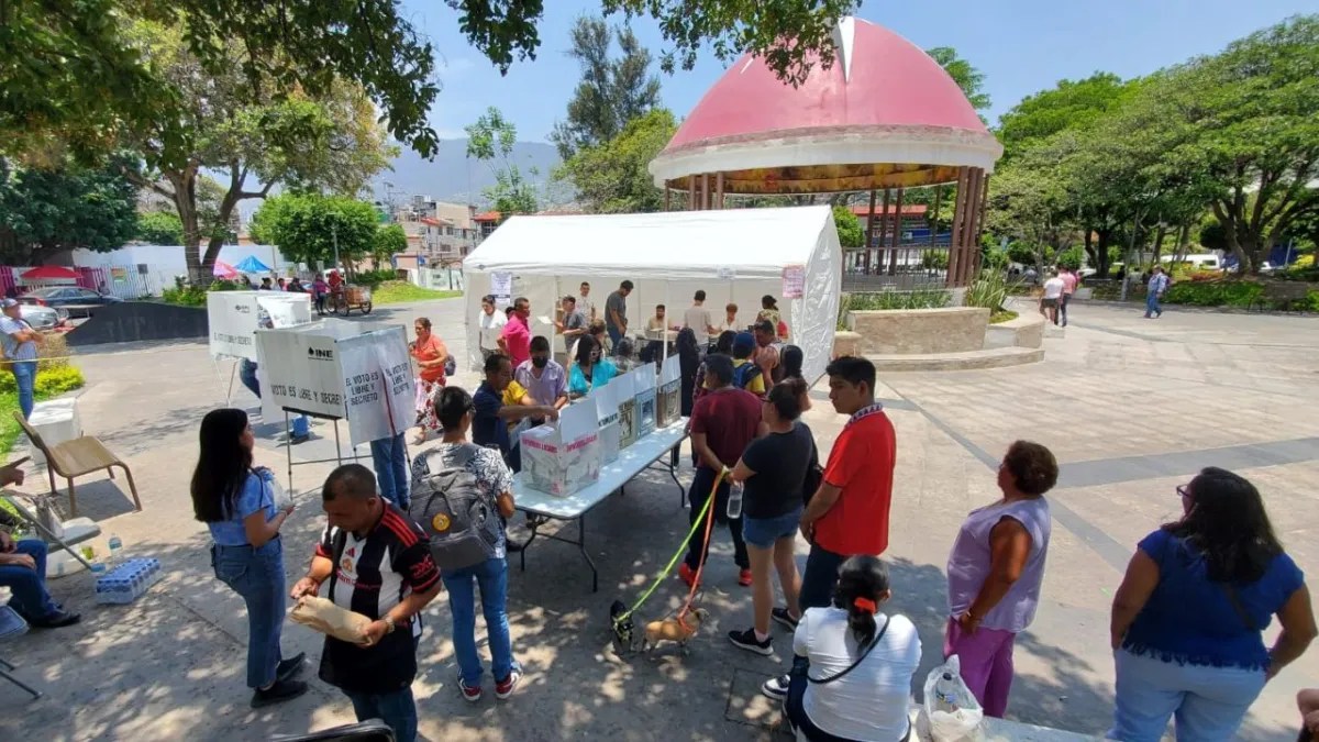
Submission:
M 379 310 L 368 320 L 427 316 L 446 341 L 462 338 L 462 300 Z M 359 321 L 353 318 L 353 321 Z M 1178 515 L 1174 487 L 1203 466 L 1233 469 L 1264 492 L 1287 551 L 1319 574 L 1319 320 L 1170 308 L 1148 321 L 1138 308 L 1076 304 L 1064 337 L 1046 341 L 1043 363 L 989 371 L 885 374 L 878 396 L 898 434 L 892 610 L 909 615 L 923 642 L 918 684 L 936 664 L 944 622 L 944 562 L 966 512 L 997 496 L 995 467 L 1017 438 L 1049 445 L 1062 463 L 1049 498 L 1055 519 L 1043 601 L 1017 644 L 1009 717 L 1103 734 L 1112 708 L 1108 615 L 1134 544 Z M 135 514 L 117 482 L 79 487 L 84 515 L 131 555 L 160 557 L 168 576 L 137 603 L 99 607 L 86 573 L 53 581 L 55 597 L 83 613 L 73 628 L 33 631 L 0 656 L 46 696 L 29 701 L 0 683 L 3 739 L 265 739 L 352 721 L 343 696 L 315 680 L 321 638 L 286 624 L 285 652 L 311 658 L 311 692 L 261 710 L 243 687 L 247 623 L 237 595 L 210 572 L 206 528 L 191 519 L 187 483 L 197 428 L 224 404 L 231 364 L 202 343 L 91 349 L 79 359 L 87 433 L 133 469 L 145 510 Z M 474 374 L 459 375 L 471 383 Z M 255 400 L 235 384 L 235 403 Z M 828 449 L 843 419 L 824 384 L 806 415 Z M 278 425 L 262 425 L 257 462 L 284 471 Z M 334 454 L 331 426 L 295 446 L 299 459 Z M 361 449 L 365 452 L 365 446 Z M 686 461 L 687 457 L 683 457 Z M 369 457 L 368 457 L 369 462 Z M 302 506 L 284 529 L 290 584 L 323 524 L 317 489 L 331 465 L 298 467 Z M 691 481 L 685 463 L 681 478 Z M 42 487 L 33 477 L 29 487 Z M 587 520 L 600 591 L 574 547 L 538 541 L 526 572 L 509 584 L 514 651 L 526 668 L 517 694 L 467 704 L 455 688 L 447 597 L 426 611 L 421 675 L 414 685 L 421 733 L 433 741 L 768 739 L 774 709 L 757 693 L 786 667 L 790 636 L 776 630 L 773 658 L 732 647 L 729 628 L 751 621 L 751 591 L 737 586 L 732 548 L 718 532 L 702 627 L 687 656 L 669 650 L 628 660 L 608 646 L 608 607 L 630 599 L 667 560 L 687 527 L 678 489 L 645 475 Z M 805 544 L 798 552 L 805 560 Z M 681 605 L 666 582 L 644 610 Z M 1272 640 L 1277 627 L 1268 634 Z M 477 635 L 481 635 L 479 624 Z M 484 651 L 484 640 L 480 642 Z M 491 681 L 487 679 L 487 689 Z M 1319 648 L 1274 679 L 1254 705 L 1242 739 L 1295 738 L 1294 694 L 1319 687 Z

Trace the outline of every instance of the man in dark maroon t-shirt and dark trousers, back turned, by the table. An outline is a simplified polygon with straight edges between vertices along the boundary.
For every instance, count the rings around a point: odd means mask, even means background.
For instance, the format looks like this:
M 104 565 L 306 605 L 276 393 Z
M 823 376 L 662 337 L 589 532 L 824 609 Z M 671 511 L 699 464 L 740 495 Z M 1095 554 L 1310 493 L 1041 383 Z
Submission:
M 733 387 L 733 359 L 715 354 L 706 358 L 706 393 L 691 409 L 691 450 L 696 454 L 696 475 L 691 481 L 687 499 L 691 502 L 691 523 L 696 522 L 702 506 L 710 499 L 715 477 L 724 467 L 732 469 L 747 445 L 761 433 L 760 397 Z M 737 562 L 740 585 L 751 585 L 751 557 L 741 537 L 741 518 L 728 518 L 728 482 L 719 483 L 719 492 L 711 503 L 716 523 L 727 523 L 733 537 L 733 561 Z M 714 533 L 711 533 L 714 537 Z M 706 551 L 706 522 L 692 531 L 687 541 L 687 558 L 678 568 L 678 576 L 689 586 L 696 578 L 702 545 Z

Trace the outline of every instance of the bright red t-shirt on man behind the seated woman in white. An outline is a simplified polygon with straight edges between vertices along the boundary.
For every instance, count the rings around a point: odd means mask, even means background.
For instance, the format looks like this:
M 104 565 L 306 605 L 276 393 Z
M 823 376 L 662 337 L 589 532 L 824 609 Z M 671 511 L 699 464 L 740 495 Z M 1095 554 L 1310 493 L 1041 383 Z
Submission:
M 889 548 L 896 459 L 897 438 L 884 409 L 876 407 L 852 416 L 824 467 L 824 482 L 843 492 L 815 522 L 815 543 L 843 556 L 880 556 Z

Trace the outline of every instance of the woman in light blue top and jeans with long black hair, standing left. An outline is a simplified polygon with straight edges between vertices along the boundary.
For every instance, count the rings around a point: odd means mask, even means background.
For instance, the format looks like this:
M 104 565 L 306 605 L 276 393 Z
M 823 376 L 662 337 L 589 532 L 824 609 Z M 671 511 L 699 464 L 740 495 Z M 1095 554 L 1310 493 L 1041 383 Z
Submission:
M 248 610 L 248 687 L 252 708 L 295 698 L 306 655 L 281 659 L 284 548 L 280 527 L 293 506 L 276 511 L 273 475 L 252 469 L 252 428 L 241 409 L 214 409 L 202 419 L 202 452 L 193 471 L 193 514 L 211 529 L 215 577 L 243 595 Z

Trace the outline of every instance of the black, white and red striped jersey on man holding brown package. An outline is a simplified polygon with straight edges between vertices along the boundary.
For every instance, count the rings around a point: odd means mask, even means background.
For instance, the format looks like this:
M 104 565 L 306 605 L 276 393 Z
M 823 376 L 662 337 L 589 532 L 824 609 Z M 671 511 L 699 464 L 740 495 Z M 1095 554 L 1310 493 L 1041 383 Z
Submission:
M 430 540 L 406 514 L 385 503 L 380 522 L 364 537 L 327 527 L 317 556 L 335 562 L 328 598 L 336 606 L 379 621 L 413 593 L 439 584 Z M 360 647 L 326 636 L 321 680 L 355 693 L 389 693 L 412 684 L 417 675 L 421 617 L 386 634 L 375 647 Z

